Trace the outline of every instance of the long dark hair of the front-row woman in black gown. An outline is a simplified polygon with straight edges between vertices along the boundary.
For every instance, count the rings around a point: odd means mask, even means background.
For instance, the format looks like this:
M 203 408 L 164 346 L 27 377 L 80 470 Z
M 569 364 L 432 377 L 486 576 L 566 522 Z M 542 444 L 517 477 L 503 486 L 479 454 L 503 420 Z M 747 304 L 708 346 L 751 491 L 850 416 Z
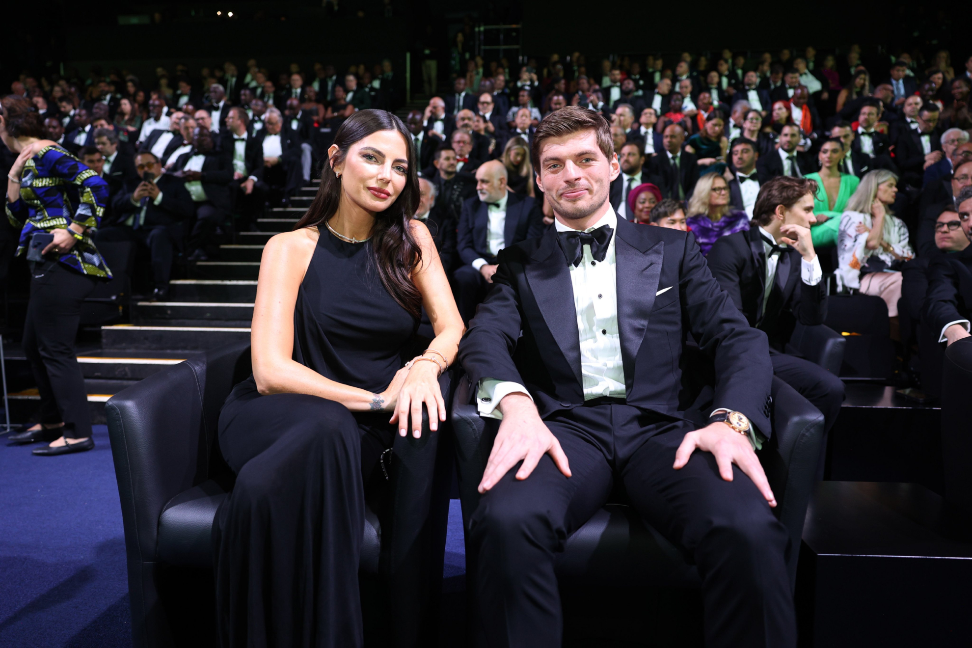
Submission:
M 321 187 L 317 190 L 310 209 L 295 225 L 323 227 L 334 214 L 341 201 L 341 179 L 334 175 L 332 165 L 339 164 L 355 142 L 363 140 L 379 130 L 396 130 L 401 133 L 408 152 L 408 179 L 401 195 L 388 209 L 375 214 L 371 230 L 371 250 L 375 267 L 385 290 L 403 309 L 418 320 L 422 314 L 422 294 L 412 282 L 412 271 L 422 261 L 422 251 L 412 236 L 409 222 L 418 209 L 420 190 L 418 164 L 415 149 L 411 146 L 411 134 L 401 119 L 383 110 L 363 110 L 344 120 L 334 136 L 337 152 L 331 163 L 325 163 L 321 172 Z M 322 233 L 322 236 L 324 234 Z

